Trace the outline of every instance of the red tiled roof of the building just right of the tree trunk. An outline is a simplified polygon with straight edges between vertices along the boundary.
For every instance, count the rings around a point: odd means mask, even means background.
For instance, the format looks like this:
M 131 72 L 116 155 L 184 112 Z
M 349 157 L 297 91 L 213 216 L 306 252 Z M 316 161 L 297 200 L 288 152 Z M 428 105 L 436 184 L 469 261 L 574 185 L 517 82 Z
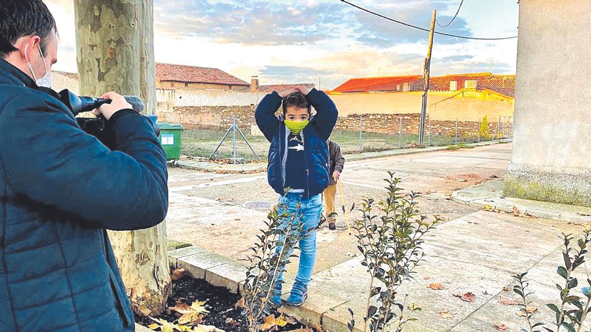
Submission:
M 194 67 L 184 64 L 156 64 L 156 79 L 160 82 L 209 83 L 250 86 L 217 68 Z

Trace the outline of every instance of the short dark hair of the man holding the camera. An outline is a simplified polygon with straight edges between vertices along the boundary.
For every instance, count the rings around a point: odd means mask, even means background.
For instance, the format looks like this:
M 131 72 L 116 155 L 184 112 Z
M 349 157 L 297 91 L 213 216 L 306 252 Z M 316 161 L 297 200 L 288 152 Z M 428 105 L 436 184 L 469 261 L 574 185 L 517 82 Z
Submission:
M 56 31 L 56 20 L 41 0 L 0 0 L 0 57 L 18 51 L 14 43 L 25 35 L 41 37 L 46 52 L 47 35 Z

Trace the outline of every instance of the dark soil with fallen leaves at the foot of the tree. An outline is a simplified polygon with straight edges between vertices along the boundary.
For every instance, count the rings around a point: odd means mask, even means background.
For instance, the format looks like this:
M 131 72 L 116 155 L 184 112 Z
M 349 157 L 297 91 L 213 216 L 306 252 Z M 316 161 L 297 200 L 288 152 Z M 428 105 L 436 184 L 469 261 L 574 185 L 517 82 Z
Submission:
M 172 323 L 181 316 L 172 310 L 177 304 L 191 305 L 193 301 L 207 301 L 205 307 L 209 310 L 209 314 L 204 317 L 202 324 L 213 325 L 226 332 L 248 332 L 242 308 L 235 307 L 238 300 L 240 300 L 240 296 L 233 294 L 226 288 L 212 286 L 203 279 L 184 277 L 173 281 L 173 291 L 167 301 L 168 309 L 162 315 L 154 318 L 163 318 Z M 277 317 L 277 313 L 275 313 L 275 317 Z M 143 326 L 150 326 L 154 323 L 150 318 L 138 315 L 135 316 L 135 322 Z M 290 324 L 280 327 L 277 331 L 291 331 L 302 327 L 305 326 Z

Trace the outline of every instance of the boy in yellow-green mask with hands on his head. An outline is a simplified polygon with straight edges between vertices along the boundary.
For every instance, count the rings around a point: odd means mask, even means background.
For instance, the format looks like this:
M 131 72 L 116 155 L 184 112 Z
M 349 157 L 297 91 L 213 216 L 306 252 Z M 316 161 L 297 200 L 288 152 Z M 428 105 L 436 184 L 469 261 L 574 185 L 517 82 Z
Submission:
M 275 112 L 282 106 L 282 114 Z M 311 115 L 311 106 L 316 115 Z M 324 92 L 298 86 L 297 89 L 273 92 L 265 96 L 255 110 L 256 125 L 271 142 L 268 154 L 269 185 L 280 194 L 281 220 L 291 216 L 303 223 L 303 232 L 318 226 L 322 214 L 322 193 L 329 185 L 327 140 L 338 116 L 335 103 Z M 314 262 L 316 231 L 300 240 L 300 266 L 288 305 L 301 305 L 308 296 Z M 283 270 L 281 268 L 280 270 Z M 283 273 L 277 277 L 271 303 L 281 305 Z

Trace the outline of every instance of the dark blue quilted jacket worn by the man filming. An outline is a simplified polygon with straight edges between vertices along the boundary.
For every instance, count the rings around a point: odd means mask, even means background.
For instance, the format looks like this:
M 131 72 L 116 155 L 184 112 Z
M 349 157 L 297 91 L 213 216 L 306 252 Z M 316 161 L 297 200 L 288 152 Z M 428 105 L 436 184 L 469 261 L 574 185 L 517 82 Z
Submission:
M 120 110 L 111 151 L 0 59 L 0 331 L 134 331 L 105 229 L 144 229 L 168 206 L 150 120 Z

